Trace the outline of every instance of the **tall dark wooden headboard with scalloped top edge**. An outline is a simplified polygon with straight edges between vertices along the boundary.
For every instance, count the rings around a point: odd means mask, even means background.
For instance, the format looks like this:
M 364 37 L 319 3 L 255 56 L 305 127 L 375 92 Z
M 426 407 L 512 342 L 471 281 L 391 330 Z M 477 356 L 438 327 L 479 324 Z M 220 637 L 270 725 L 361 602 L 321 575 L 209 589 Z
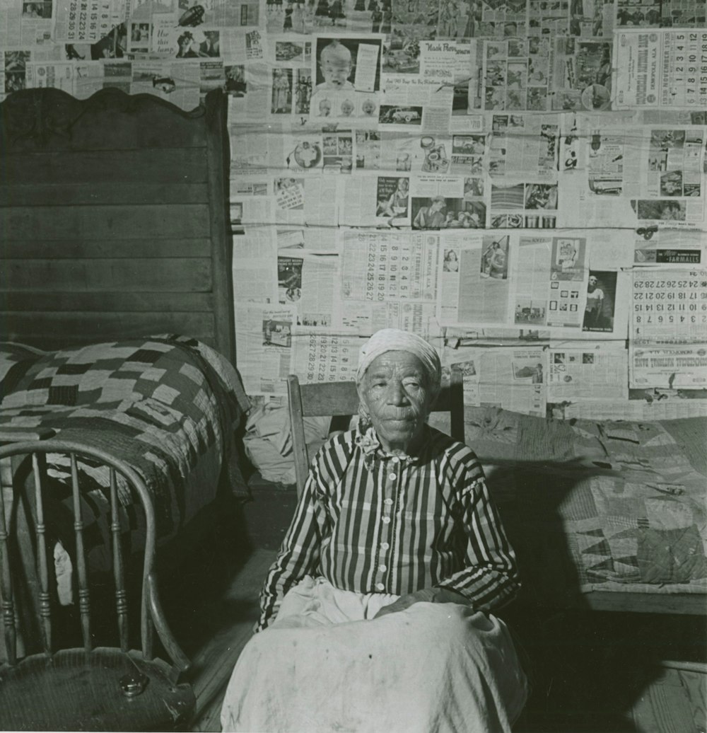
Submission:
M 0 104 L 0 339 L 178 333 L 235 363 L 226 98 L 58 89 Z

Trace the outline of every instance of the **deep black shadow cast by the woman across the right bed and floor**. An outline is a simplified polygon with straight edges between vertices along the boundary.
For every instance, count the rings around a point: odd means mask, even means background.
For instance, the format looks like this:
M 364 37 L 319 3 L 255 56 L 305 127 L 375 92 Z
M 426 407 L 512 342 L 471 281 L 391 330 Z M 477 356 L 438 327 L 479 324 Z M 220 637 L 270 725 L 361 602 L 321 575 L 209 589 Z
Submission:
M 591 610 L 559 508 L 591 468 L 508 463 L 486 474 L 523 583 L 519 598 L 498 614 L 514 633 L 532 686 L 514 733 L 637 731 L 632 707 L 664 674 L 661 660 L 705 660 L 704 617 Z

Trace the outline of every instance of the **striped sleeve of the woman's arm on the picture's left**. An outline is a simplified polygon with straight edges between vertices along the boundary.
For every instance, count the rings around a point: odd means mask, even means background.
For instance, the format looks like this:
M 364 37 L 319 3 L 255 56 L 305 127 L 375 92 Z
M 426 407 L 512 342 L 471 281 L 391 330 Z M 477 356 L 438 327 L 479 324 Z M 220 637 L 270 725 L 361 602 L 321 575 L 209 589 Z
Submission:
M 307 481 L 297 502 L 295 515 L 282 542 L 278 556 L 270 567 L 260 593 L 260 618 L 255 630 L 262 631 L 273 621 L 286 592 L 305 575 L 319 567 L 322 538 L 330 531 L 322 497 L 319 460 L 324 449 L 311 465 Z

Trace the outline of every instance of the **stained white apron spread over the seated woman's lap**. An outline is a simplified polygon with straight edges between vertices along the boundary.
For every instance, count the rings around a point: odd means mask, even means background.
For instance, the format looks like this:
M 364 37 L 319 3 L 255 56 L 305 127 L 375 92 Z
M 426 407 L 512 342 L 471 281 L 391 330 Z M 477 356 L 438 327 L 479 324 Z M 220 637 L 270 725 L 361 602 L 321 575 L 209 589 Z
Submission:
M 455 603 L 373 619 L 394 600 L 301 581 L 243 649 L 223 731 L 510 731 L 527 687 L 506 625 Z

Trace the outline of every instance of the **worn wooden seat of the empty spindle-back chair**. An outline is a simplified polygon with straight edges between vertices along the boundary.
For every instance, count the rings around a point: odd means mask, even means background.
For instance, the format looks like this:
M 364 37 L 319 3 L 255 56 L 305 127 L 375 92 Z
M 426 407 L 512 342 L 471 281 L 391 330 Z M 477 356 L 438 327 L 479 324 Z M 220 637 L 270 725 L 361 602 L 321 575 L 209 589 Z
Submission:
M 125 675 L 147 677 L 144 690 L 122 692 Z M 196 699 L 190 685 L 174 685 L 161 660 L 98 648 L 33 655 L 0 666 L 0 729 L 34 731 L 167 731 L 184 728 Z

